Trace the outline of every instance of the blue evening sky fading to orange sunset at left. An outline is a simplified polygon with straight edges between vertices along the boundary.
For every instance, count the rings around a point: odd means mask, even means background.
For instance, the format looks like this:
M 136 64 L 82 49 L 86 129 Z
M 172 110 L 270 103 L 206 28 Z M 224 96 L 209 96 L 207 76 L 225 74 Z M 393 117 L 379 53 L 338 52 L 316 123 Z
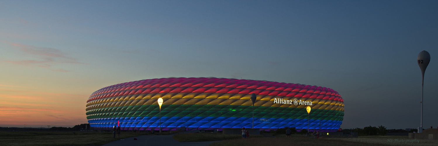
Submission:
M 438 126 L 436 0 L 1 0 L 0 126 L 88 123 L 117 83 L 224 77 L 341 94 L 341 128 Z

